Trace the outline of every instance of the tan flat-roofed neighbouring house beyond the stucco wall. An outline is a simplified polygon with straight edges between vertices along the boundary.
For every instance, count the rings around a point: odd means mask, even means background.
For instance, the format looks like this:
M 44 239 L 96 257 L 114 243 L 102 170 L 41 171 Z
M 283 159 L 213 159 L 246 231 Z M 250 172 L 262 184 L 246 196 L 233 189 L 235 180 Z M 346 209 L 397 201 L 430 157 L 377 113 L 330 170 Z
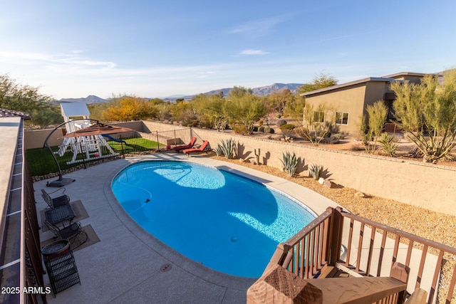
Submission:
M 333 85 L 320 90 L 313 90 L 301 94 L 306 98 L 306 105 L 314 109 L 318 105 L 331 105 L 336 110 L 336 125 L 340 132 L 356 134 L 361 115 L 367 114 L 366 107 L 378 100 L 383 100 L 388 109 L 393 106 L 395 94 L 390 90 L 390 83 L 400 81 L 420 83 L 423 73 L 395 73 L 383 77 L 369 77 L 355 80 L 350 83 Z M 328 115 L 333 112 L 315 112 L 314 117 L 321 122 L 331 120 Z

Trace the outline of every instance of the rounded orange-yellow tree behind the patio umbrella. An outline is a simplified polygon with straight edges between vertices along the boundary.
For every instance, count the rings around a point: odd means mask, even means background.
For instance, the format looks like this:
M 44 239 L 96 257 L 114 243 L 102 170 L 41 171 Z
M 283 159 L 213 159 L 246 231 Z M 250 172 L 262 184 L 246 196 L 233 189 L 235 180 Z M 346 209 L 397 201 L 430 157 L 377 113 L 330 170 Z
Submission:
M 105 119 L 109 121 L 145 120 L 157 117 L 157 109 L 145 98 L 125 96 L 113 100 L 112 103 L 112 106 L 103 112 Z

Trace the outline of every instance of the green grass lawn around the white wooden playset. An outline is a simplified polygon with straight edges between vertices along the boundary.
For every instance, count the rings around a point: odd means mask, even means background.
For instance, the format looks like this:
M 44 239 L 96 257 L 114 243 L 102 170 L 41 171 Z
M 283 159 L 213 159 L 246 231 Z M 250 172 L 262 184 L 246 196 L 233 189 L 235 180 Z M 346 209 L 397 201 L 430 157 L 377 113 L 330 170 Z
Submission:
M 108 141 L 108 145 L 117 153 L 128 154 L 128 153 L 135 153 L 135 152 L 145 152 L 150 150 L 157 150 L 159 148 L 165 147 L 165 145 L 160 144 L 160 142 L 154 142 L 152 140 L 146 140 L 144 138 L 129 138 L 125 140 L 125 143 L 121 142 L 114 142 L 113 140 Z M 123 149 L 123 150 L 122 150 Z M 58 151 L 58 147 L 51 147 L 53 152 Z M 105 148 L 102 147 L 102 154 L 110 154 L 110 152 Z M 93 154 L 94 152 L 90 152 Z M 62 170 L 70 169 L 72 167 L 79 166 L 83 164 L 83 162 L 76 162 L 75 164 L 67 164 L 66 162 L 70 162 L 73 158 L 73 152 L 67 150 L 63 157 L 58 156 L 58 154 L 54 154 L 60 165 Z M 28 162 L 28 167 L 30 168 L 31 175 L 41 176 L 46 175 L 49 173 L 58 172 L 58 167 L 56 162 L 54 161 L 51 152 L 47 148 L 36 148 L 36 149 L 28 149 L 26 151 L 26 157 Z M 86 157 L 86 153 L 79 153 L 76 159 L 84 159 Z M 96 161 L 98 159 L 94 159 Z M 92 162 L 92 161 L 88 161 Z M 88 163 L 87 162 L 87 163 Z

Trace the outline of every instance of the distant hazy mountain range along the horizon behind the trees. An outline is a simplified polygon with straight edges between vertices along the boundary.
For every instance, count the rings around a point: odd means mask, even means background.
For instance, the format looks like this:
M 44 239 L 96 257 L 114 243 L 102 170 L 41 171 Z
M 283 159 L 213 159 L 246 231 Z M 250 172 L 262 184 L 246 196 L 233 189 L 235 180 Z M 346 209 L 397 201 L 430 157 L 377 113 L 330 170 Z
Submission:
M 266 96 L 270 95 L 274 91 L 281 91 L 281 90 L 290 90 L 291 93 L 297 93 L 298 88 L 302 85 L 302 83 L 274 83 L 272 85 L 266 85 L 264 87 L 252 88 L 252 93 L 258 96 Z M 223 88 L 218 90 L 211 90 L 209 92 L 203 93 L 204 95 L 214 95 L 223 92 L 224 96 L 227 96 L 229 91 L 232 88 Z M 184 98 L 185 100 L 191 100 L 195 95 L 172 95 L 165 98 L 160 98 L 162 100 L 172 101 L 174 102 L 177 98 Z M 150 98 L 152 99 L 152 98 Z M 61 100 L 56 100 L 58 103 L 87 103 L 88 105 L 93 103 L 106 103 L 109 99 L 99 98 L 95 95 L 88 95 L 86 98 L 62 98 Z

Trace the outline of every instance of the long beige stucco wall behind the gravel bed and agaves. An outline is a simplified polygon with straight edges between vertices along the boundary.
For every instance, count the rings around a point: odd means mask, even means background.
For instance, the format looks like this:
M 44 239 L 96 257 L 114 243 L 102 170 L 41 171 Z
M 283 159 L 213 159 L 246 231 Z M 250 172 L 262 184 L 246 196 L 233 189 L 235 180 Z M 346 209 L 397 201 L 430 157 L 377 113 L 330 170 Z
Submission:
M 145 122 L 145 125 L 154 131 L 182 128 L 159 122 Z M 304 165 L 300 163 L 301 174 L 308 175 L 306 170 L 309 165 L 321 164 L 323 170 L 328 172 L 328 178 L 336 184 L 413 206 L 456 215 L 456 168 L 453 167 L 326 150 L 276 140 L 261 140 L 214 130 L 194 129 L 194 132 L 203 140 L 209 140 L 212 148 L 217 147 L 220 140 L 234 138 L 239 143 L 242 158 L 254 158 L 254 149 L 260 149 L 260 162 L 277 168 L 282 167 L 282 152 L 295 152 L 301 160 L 304 159 Z

